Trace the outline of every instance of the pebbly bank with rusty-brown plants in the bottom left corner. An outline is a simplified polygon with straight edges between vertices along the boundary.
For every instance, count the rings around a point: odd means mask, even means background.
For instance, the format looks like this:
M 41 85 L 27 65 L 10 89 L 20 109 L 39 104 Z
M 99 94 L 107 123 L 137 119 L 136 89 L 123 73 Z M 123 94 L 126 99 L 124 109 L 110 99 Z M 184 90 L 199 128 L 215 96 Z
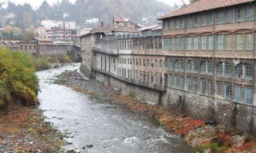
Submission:
M 0 152 L 64 152 L 64 137 L 35 106 L 10 104 L 0 112 Z

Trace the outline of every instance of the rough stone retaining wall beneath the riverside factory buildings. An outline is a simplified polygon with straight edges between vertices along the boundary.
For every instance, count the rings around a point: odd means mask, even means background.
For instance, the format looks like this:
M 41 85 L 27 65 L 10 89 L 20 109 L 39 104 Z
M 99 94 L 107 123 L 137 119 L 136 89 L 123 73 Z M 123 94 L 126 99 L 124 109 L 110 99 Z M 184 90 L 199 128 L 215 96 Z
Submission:
M 148 87 L 126 83 L 99 72 L 94 72 L 94 75 L 96 80 L 101 83 L 121 90 L 143 103 L 162 104 L 193 118 L 215 120 L 218 124 L 256 135 L 256 107 L 230 103 L 171 88 L 168 88 L 166 92 L 160 92 Z

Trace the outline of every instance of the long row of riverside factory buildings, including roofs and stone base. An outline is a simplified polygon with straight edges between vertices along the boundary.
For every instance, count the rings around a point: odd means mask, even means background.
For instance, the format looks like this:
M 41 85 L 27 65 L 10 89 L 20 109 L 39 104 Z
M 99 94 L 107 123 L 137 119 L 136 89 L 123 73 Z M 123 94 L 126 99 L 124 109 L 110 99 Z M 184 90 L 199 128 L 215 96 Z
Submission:
M 147 103 L 255 132 L 255 5 L 199 0 L 158 18 L 163 27 L 98 29 L 81 38 L 81 69 Z

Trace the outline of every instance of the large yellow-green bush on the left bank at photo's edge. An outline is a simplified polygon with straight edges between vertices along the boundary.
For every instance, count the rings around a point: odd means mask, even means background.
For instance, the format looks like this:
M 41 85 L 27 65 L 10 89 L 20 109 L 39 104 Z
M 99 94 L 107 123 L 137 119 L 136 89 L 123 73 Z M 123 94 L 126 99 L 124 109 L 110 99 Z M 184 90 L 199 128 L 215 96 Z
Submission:
M 35 104 L 39 90 L 32 55 L 0 49 L 0 103 L 20 100 L 26 105 Z

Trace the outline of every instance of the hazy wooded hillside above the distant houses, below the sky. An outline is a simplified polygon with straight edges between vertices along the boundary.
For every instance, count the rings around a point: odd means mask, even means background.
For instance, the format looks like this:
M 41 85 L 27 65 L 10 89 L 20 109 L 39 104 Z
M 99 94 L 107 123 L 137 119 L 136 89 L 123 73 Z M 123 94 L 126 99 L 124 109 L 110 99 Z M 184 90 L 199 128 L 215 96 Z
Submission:
M 44 1 L 36 10 L 29 4 L 11 3 L 7 9 L 0 9 L 0 14 L 14 13 L 15 26 L 26 29 L 28 25 L 40 26 L 43 19 L 76 21 L 82 24 L 86 19 L 99 18 L 99 22 L 104 21 L 107 24 L 112 22 L 113 15 L 145 24 L 143 18 L 154 20 L 174 9 L 177 7 L 170 7 L 157 0 L 77 0 L 75 4 L 61 0 L 52 6 Z M 64 18 L 63 13 L 68 16 Z

